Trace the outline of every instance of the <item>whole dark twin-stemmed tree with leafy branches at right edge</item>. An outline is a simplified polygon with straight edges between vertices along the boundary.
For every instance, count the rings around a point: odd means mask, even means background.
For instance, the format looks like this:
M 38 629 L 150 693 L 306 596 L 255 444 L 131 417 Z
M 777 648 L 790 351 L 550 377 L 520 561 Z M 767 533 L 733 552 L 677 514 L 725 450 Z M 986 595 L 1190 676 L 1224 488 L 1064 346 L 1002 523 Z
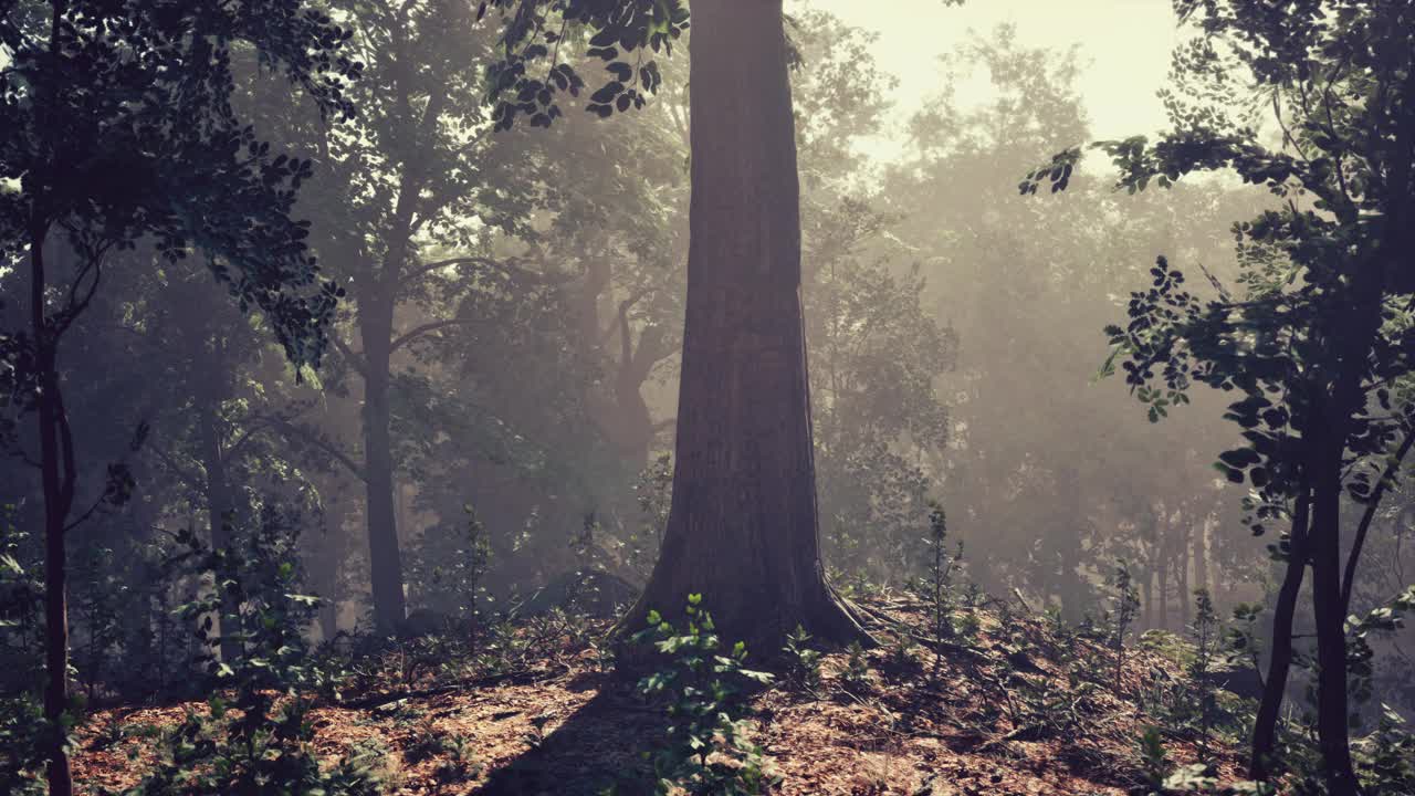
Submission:
M 1167 96 L 1174 130 L 1097 144 L 1131 193 L 1201 170 L 1231 170 L 1282 200 L 1234 228 L 1245 295 L 1199 302 L 1160 258 L 1153 286 L 1132 295 L 1129 323 L 1109 330 L 1126 381 L 1152 416 L 1187 402 L 1191 382 L 1237 390 L 1228 418 L 1248 445 L 1217 467 L 1257 490 L 1248 521 L 1292 517 L 1278 548 L 1288 562 L 1274 623 L 1268 687 L 1281 700 L 1296 591 L 1312 567 L 1317 636 L 1317 734 L 1327 788 L 1358 792 L 1348 749 L 1344 593 L 1360 547 L 1343 567 L 1341 496 L 1374 503 L 1373 457 L 1412 425 L 1390 385 L 1415 357 L 1415 3 L 1305 0 L 1285 13 L 1257 0 L 1180 0 L 1201 35 L 1176 52 Z M 1281 147 L 1235 120 L 1238 68 L 1269 103 Z M 1067 186 L 1078 150 L 1022 184 Z M 1159 373 L 1156 373 L 1159 371 Z M 1265 700 L 1254 738 L 1255 775 L 1272 761 L 1275 710 Z

